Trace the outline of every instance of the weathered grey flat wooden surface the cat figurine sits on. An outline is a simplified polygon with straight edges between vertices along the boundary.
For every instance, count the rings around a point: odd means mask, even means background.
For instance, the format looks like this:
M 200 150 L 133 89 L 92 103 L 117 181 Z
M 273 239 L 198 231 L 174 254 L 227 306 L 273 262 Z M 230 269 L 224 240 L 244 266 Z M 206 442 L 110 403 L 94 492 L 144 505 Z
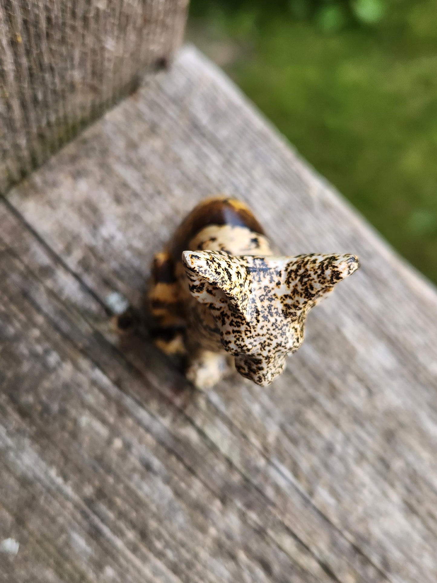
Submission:
M 269 388 L 193 391 L 146 338 L 154 252 L 204 196 L 361 269 Z M 192 48 L 0 204 L 5 581 L 437 579 L 437 294 Z

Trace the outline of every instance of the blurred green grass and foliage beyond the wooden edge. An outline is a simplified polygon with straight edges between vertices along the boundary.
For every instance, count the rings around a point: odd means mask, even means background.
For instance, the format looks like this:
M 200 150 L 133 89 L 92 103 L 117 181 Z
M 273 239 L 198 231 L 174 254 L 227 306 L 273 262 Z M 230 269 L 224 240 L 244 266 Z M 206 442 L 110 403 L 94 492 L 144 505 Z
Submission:
M 190 36 L 437 282 L 437 0 L 191 0 Z

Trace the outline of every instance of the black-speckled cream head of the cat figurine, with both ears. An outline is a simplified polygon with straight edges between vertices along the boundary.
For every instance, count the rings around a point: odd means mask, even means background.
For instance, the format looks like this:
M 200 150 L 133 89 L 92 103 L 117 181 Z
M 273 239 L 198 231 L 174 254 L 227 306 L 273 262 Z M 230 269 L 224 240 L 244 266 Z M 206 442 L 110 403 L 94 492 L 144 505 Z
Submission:
M 237 257 L 222 251 L 184 251 L 182 262 L 189 291 L 209 308 L 238 373 L 262 386 L 301 346 L 309 310 L 359 265 L 355 255 Z

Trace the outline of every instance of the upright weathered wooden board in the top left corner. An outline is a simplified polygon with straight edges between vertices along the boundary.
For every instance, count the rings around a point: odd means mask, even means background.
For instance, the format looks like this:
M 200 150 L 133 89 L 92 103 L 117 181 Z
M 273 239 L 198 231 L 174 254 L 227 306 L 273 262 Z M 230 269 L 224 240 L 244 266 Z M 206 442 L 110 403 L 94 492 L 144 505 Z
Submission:
M 0 194 L 168 64 L 187 3 L 0 0 Z

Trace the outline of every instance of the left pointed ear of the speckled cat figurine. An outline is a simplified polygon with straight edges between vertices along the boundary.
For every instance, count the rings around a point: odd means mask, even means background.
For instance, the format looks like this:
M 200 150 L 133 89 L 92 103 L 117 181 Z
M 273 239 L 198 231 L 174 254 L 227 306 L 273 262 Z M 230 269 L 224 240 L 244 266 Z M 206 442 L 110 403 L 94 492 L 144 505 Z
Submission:
M 250 276 L 239 257 L 222 251 L 184 251 L 182 263 L 189 290 L 196 300 L 216 307 L 223 307 L 224 301 L 228 301 L 246 315 Z

